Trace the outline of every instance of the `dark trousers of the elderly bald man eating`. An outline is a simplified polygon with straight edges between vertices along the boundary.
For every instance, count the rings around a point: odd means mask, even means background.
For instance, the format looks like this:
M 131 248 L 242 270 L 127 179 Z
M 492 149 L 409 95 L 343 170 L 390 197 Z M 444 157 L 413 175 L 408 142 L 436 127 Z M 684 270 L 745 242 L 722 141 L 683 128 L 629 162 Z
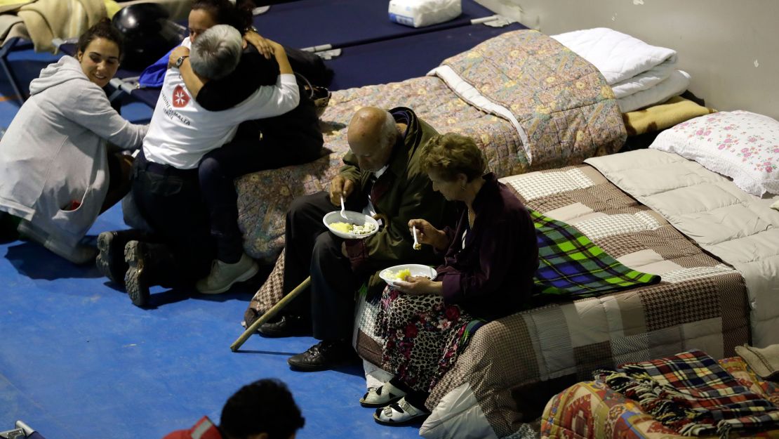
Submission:
M 361 209 L 350 203 L 351 209 Z M 311 288 L 291 303 L 287 310 L 310 316 L 315 338 L 351 338 L 354 324 L 354 292 L 368 276 L 355 274 L 341 253 L 343 239 L 330 233 L 322 217 L 337 207 L 327 193 L 301 196 L 287 213 L 284 234 L 284 294 L 291 292 L 311 275 Z

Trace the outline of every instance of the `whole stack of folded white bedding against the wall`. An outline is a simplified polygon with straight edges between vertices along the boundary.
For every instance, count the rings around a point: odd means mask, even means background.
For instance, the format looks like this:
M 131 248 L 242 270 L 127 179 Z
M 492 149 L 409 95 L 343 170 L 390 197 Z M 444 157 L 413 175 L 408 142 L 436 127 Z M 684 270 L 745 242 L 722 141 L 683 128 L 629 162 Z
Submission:
M 621 112 L 666 101 L 687 90 L 689 75 L 676 69 L 676 51 L 598 27 L 552 36 L 587 59 L 612 86 Z

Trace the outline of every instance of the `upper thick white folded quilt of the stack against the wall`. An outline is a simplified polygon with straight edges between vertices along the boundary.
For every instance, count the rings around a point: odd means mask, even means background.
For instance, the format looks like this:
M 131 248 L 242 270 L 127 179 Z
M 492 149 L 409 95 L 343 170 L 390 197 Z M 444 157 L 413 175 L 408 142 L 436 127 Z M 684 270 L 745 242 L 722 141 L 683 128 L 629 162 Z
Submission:
M 675 50 L 653 46 L 605 27 L 574 30 L 552 38 L 587 59 L 612 86 L 664 62 L 676 62 Z

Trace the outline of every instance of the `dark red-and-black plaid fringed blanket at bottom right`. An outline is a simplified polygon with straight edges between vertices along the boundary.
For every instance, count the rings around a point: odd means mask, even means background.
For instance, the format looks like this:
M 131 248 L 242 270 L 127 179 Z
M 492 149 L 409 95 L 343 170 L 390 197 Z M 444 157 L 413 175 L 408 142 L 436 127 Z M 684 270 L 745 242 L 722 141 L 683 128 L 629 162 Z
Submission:
M 597 370 L 596 380 L 627 398 L 666 427 L 683 436 L 715 432 L 727 438 L 731 430 L 779 427 L 779 408 L 728 374 L 698 349 L 618 370 Z

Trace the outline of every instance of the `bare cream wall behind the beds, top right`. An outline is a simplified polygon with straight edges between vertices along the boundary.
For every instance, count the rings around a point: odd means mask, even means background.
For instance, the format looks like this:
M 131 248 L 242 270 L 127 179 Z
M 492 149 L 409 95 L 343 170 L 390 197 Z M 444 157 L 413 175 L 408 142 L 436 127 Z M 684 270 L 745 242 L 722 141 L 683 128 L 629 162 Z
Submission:
M 779 119 L 777 0 L 478 0 L 553 35 L 610 27 L 679 52 L 689 90 L 720 110 Z M 521 9 L 521 16 L 519 15 Z

